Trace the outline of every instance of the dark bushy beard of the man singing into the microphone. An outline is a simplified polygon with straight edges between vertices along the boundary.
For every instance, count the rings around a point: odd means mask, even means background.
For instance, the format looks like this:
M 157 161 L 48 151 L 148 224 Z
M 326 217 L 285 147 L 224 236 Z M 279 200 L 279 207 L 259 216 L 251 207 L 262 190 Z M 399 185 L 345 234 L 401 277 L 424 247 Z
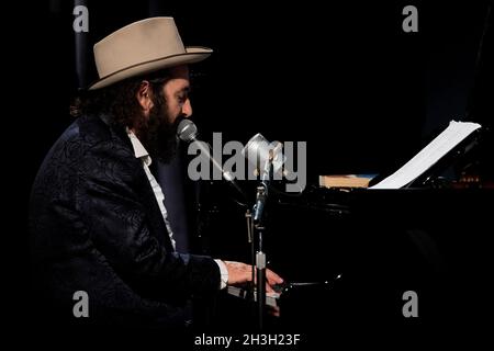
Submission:
M 168 163 L 177 154 L 177 127 L 183 117 L 179 116 L 173 123 L 170 122 L 171 117 L 166 107 L 164 101 L 156 103 L 149 111 L 147 123 L 141 127 L 137 135 L 151 158 Z

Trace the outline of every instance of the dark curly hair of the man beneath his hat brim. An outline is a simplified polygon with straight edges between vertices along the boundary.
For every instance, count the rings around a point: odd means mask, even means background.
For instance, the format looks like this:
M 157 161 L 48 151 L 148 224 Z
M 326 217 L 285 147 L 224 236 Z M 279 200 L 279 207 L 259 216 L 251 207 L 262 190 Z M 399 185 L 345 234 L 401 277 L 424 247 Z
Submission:
M 112 122 L 128 128 L 138 127 L 137 116 L 141 105 L 136 99 L 141 82 L 150 82 L 153 94 L 164 101 L 164 84 L 170 79 L 169 70 L 160 70 L 146 76 L 125 79 L 110 87 L 97 90 L 82 90 L 70 105 L 70 114 L 75 117 L 86 114 L 108 114 Z

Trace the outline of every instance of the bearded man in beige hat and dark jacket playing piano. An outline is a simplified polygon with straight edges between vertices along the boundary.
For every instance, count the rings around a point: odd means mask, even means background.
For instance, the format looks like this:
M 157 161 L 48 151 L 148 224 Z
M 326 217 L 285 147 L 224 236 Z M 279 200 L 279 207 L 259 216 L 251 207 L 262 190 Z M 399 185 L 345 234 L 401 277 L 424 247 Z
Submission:
M 46 156 L 30 203 L 36 287 L 56 318 L 182 326 L 190 297 L 251 280 L 250 265 L 176 252 L 149 171 L 171 158 L 178 122 L 192 114 L 188 65 L 211 53 L 184 47 L 171 18 L 94 45 L 100 79 L 75 105 L 79 117 Z M 282 282 L 267 278 L 268 291 Z M 85 296 L 87 312 L 76 306 Z

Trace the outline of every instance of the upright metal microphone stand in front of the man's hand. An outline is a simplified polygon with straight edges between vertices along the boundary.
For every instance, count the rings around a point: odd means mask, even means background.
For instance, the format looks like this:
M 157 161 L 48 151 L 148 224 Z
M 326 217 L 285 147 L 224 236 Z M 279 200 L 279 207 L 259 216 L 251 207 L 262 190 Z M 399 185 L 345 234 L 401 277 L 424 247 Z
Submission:
M 257 230 L 257 253 L 256 253 L 256 273 L 257 273 L 257 317 L 258 328 L 263 329 L 266 310 L 266 253 L 262 251 L 262 234 L 266 229 L 263 225 L 263 210 L 268 199 L 268 181 L 271 176 L 272 163 L 266 161 L 262 170 L 261 182 L 257 186 L 256 204 L 254 205 L 254 227 Z M 254 271 L 254 270 L 252 270 Z

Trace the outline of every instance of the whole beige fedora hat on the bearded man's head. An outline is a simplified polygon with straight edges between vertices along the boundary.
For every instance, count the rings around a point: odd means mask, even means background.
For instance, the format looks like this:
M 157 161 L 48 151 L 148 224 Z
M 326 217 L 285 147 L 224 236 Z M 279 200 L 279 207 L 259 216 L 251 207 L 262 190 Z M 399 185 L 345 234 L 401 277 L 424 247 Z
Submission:
M 162 68 L 203 60 L 207 47 L 184 47 L 172 18 L 131 23 L 94 44 L 99 80 L 89 90 Z

